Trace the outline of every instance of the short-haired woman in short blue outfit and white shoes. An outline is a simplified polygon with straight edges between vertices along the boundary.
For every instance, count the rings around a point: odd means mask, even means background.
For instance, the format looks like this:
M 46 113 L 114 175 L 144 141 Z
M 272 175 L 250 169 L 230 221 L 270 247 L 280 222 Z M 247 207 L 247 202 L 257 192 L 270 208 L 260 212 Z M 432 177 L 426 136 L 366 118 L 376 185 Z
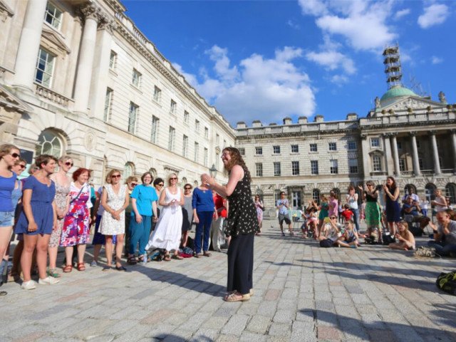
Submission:
M 53 229 L 57 229 L 57 211 L 54 203 L 56 185 L 49 178 L 54 172 L 57 159 L 52 155 L 39 155 L 36 165 L 38 172 L 28 177 L 23 187 L 22 202 L 24 209 L 16 224 L 16 234 L 24 234 L 24 251 L 21 256 L 21 267 L 24 282 L 21 287 L 25 290 L 36 288 L 31 280 L 31 261 L 36 249 L 36 264 L 38 265 L 38 284 L 56 284 L 58 279 L 46 274 L 48 259 L 48 244 Z

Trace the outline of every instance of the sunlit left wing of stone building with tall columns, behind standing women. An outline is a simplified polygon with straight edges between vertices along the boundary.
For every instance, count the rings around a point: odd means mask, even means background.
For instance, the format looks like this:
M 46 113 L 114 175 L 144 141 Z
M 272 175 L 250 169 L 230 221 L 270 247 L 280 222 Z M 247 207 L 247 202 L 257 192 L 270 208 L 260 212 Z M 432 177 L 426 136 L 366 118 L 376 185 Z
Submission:
M 192 183 L 221 171 L 234 130 L 124 12 L 118 0 L 0 0 L 1 142 L 28 162 L 71 155 L 95 184 L 113 167 Z

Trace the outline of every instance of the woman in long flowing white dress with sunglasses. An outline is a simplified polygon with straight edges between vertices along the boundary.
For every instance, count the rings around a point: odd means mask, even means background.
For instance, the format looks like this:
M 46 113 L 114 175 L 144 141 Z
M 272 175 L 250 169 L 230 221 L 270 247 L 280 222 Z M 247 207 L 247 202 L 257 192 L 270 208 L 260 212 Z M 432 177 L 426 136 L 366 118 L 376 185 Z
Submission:
M 177 187 L 177 175 L 168 176 L 168 187 L 160 194 L 158 201 L 163 209 L 158 219 L 154 234 L 150 237 L 145 249 L 150 247 L 165 249 L 165 261 L 170 261 L 170 251 L 174 250 L 172 259 L 182 260 L 179 252 L 180 238 L 182 236 L 182 205 L 184 195 Z

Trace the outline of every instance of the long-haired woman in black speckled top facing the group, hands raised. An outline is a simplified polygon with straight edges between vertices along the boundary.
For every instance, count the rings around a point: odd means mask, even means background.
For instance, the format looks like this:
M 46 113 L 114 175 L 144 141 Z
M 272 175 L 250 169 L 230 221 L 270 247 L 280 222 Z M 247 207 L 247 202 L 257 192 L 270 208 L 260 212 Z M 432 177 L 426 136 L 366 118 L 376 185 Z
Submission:
M 222 162 L 229 175 L 227 185 L 219 185 L 209 175 L 202 175 L 202 182 L 229 200 L 225 233 L 232 239 L 228 248 L 228 294 L 224 300 L 248 301 L 253 287 L 254 234 L 259 232 L 257 209 L 250 189 L 250 172 L 239 150 L 224 148 Z

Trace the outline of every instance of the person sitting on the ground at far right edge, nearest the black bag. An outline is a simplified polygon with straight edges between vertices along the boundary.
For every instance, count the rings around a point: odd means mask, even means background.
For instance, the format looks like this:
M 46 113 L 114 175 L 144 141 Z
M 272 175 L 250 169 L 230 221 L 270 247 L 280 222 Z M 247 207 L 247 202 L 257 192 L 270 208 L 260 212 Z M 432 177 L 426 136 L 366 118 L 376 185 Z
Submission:
M 447 212 L 437 212 L 438 228 L 432 222 L 429 223 L 434 232 L 434 240 L 428 243 L 429 247 L 435 248 L 435 252 L 442 257 L 456 257 L 456 221 L 450 219 Z

